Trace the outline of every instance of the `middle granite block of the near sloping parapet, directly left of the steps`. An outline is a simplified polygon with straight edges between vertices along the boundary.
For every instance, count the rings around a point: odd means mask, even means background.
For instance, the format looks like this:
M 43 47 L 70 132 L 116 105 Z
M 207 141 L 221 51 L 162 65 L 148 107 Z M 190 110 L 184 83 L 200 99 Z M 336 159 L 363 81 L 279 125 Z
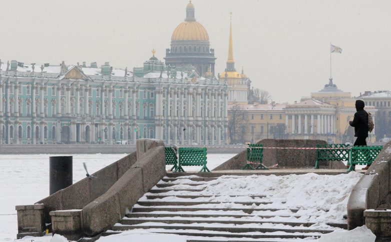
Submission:
M 144 194 L 141 168 L 128 169 L 110 188 L 118 194 L 121 217 Z

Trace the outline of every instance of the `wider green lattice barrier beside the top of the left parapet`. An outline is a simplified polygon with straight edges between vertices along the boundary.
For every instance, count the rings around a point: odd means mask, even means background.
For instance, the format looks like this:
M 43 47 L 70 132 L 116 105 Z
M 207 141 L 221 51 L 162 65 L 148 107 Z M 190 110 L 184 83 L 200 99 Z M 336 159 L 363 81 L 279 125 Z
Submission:
M 210 172 L 206 167 L 206 147 L 179 147 L 178 160 L 174 172 L 185 172 L 183 165 L 202 165 L 199 172 Z

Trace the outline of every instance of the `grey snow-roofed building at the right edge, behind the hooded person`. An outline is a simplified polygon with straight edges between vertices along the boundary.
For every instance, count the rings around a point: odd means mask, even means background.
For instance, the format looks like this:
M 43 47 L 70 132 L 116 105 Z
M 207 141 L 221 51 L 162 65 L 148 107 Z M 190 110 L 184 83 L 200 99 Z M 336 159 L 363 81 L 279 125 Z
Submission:
M 391 138 L 391 91 L 365 91 L 357 98 L 364 100 L 365 105 L 374 106 L 377 109 L 374 120 L 376 140 L 382 141 Z

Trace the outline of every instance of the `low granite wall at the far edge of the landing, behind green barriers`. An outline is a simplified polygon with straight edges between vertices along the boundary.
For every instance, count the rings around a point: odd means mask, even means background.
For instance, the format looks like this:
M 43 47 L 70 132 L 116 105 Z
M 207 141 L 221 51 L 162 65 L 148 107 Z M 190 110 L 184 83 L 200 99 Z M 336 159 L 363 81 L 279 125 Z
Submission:
M 262 139 L 257 143 L 264 147 L 315 147 L 316 144 L 326 144 L 318 139 Z M 313 167 L 316 161 L 315 149 L 263 149 L 263 164 L 271 166 L 278 163 L 278 167 L 300 168 Z M 240 169 L 246 164 L 246 150 L 241 151 L 229 160 L 220 164 L 213 170 Z M 320 168 L 340 169 L 346 168 L 341 161 L 322 161 Z

